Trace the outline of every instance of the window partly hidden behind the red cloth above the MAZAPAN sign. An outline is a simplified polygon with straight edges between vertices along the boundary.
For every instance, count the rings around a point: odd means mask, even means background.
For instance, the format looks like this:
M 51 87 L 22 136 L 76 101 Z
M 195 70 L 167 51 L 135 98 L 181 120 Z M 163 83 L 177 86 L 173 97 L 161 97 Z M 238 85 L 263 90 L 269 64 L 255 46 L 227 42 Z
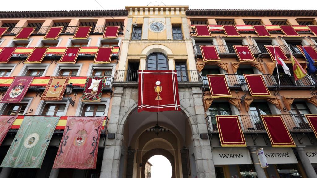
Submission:
M 212 103 L 209 107 L 209 113 L 211 116 L 211 126 L 213 130 L 218 130 L 216 115 L 232 115 L 229 103 Z

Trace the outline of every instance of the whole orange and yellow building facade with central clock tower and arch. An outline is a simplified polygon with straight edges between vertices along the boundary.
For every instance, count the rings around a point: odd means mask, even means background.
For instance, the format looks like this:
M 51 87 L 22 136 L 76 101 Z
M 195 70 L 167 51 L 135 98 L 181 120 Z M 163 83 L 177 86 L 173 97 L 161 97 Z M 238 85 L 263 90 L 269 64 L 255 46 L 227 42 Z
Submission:
M 17 76 L 36 80 L 21 102 L 0 103 L 1 115 L 20 115 L 0 147 L 0 160 L 14 141 L 24 115 L 62 116 L 59 128 L 66 126 L 67 116 L 106 118 L 96 169 L 53 169 L 64 132 L 56 129 L 42 168 L 1 168 L 0 177 L 145 178 L 149 177 L 148 159 L 155 155 L 169 159 L 172 178 L 317 177 L 316 138 L 305 116 L 317 114 L 317 77 L 310 74 L 295 81 L 291 63 L 294 55 L 306 68 L 301 45 L 312 49 L 310 54 L 317 51 L 316 34 L 307 27 L 317 25 L 317 11 L 188 8 L 0 12 L 0 27 L 8 27 L 0 38 L 0 48 L 15 48 L 10 60 L 0 63 L 0 91 L 4 94 Z M 230 35 L 232 30 L 224 30 L 223 25 L 231 25 L 237 35 Z M 269 35 L 260 37 L 252 25 L 263 25 Z M 285 35 L 279 25 L 290 25 L 298 35 Z M 76 39 L 80 26 L 92 27 L 86 38 Z M 109 26 L 119 26 L 115 37 L 105 37 Z M 16 39 L 23 27 L 35 29 L 28 38 Z M 44 39 L 50 27 L 62 27 L 56 39 Z M 201 34 L 200 27 L 207 28 L 207 35 Z M 217 59 L 208 61 L 201 46 L 211 46 Z M 26 62 L 34 47 L 49 47 L 40 63 Z M 65 47 L 81 47 L 75 62 L 59 62 Z M 94 61 L 98 47 L 113 47 L 110 62 Z M 249 51 L 239 51 L 238 47 Z M 292 76 L 275 65 L 275 48 L 280 49 L 279 55 L 285 55 Z M 252 57 L 243 59 L 247 54 Z M 181 111 L 138 112 L 139 70 L 176 70 Z M 266 96 L 254 95 L 248 74 L 263 80 Z M 230 96 L 214 97 L 210 75 L 224 78 Z M 41 100 L 50 76 L 70 77 L 72 92 L 59 101 Z M 81 101 L 90 76 L 107 77 L 100 102 Z M 248 90 L 243 89 L 247 84 Z M 215 88 L 223 90 L 220 83 Z M 226 115 L 238 118 L 245 138 L 243 147 L 225 148 L 221 141 L 217 116 Z M 292 147 L 272 145 L 268 125 L 262 119 L 265 115 L 281 116 L 294 142 Z M 260 165 L 256 153 L 260 148 L 268 168 Z

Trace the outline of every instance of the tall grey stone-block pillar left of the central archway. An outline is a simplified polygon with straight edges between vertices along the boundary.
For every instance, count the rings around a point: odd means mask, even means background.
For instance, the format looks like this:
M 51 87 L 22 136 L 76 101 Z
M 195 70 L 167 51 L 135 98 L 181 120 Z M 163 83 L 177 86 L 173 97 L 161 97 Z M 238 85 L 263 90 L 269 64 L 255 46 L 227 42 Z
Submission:
M 100 178 L 118 178 L 119 176 L 120 153 L 123 135 L 122 133 L 118 132 L 118 128 L 122 94 L 123 87 L 114 87 L 110 114 L 111 119 L 109 119 L 108 132 L 116 133 L 116 135 L 114 139 L 109 139 L 108 137 L 106 138 L 106 145 L 101 164 Z

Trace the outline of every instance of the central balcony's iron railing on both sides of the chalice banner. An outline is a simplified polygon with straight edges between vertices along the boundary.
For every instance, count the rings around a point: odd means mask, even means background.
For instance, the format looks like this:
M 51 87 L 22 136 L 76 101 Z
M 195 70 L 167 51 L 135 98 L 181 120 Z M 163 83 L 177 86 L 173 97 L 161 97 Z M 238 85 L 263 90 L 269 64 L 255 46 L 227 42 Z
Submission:
M 177 70 L 178 82 L 200 82 L 197 70 Z M 114 75 L 116 82 L 137 82 L 139 81 L 138 70 L 116 70 Z

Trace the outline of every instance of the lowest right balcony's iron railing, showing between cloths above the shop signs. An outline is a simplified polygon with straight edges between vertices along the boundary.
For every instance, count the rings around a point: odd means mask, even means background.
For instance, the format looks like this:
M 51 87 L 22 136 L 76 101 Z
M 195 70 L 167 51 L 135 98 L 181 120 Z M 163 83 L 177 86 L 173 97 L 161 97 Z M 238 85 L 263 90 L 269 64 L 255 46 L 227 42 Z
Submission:
M 287 129 L 291 132 L 311 132 L 311 128 L 304 115 L 299 114 L 282 114 L 281 115 Z M 261 120 L 261 115 L 238 115 L 243 132 L 266 132 Z M 208 132 L 218 132 L 216 116 L 209 115 L 206 117 Z

